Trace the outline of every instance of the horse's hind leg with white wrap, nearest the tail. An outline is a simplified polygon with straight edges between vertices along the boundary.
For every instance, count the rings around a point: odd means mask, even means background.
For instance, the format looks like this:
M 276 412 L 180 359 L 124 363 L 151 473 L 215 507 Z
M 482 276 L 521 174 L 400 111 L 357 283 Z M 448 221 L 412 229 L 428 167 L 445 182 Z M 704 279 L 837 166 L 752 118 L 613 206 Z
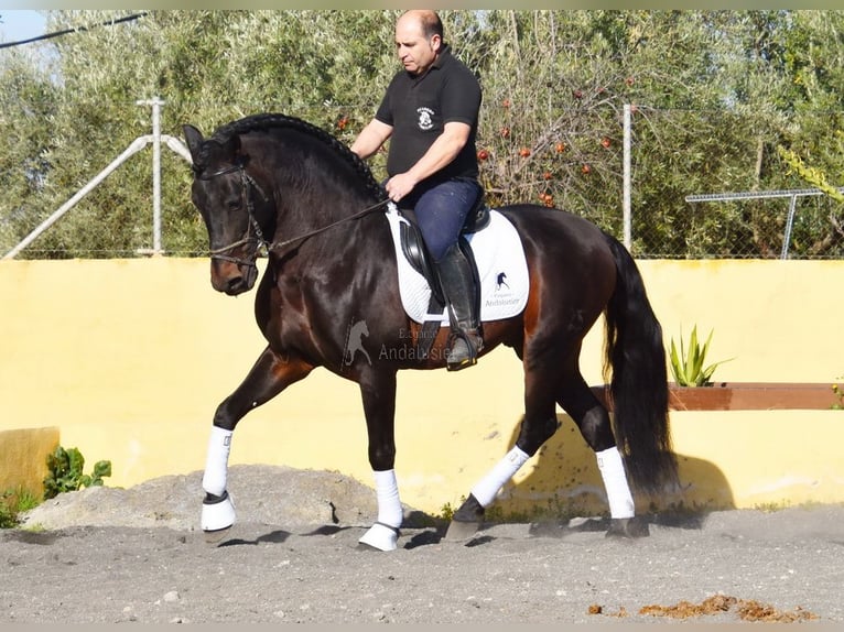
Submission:
M 609 413 L 583 380 L 580 371 L 575 371 L 565 380 L 558 403 L 569 413 L 583 438 L 595 451 L 612 519 L 607 535 L 647 535 L 647 523 L 635 520 L 636 505 L 624 460 L 616 447 Z

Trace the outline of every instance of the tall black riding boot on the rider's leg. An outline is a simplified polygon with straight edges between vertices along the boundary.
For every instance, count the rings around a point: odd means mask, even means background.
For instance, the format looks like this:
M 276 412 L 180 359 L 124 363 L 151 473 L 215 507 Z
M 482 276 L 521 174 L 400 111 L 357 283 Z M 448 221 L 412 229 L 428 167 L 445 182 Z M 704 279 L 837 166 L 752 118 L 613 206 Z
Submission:
M 455 243 L 436 262 L 452 326 L 446 369 L 458 371 L 477 362 L 484 348 L 478 315 L 477 284 L 472 264 Z

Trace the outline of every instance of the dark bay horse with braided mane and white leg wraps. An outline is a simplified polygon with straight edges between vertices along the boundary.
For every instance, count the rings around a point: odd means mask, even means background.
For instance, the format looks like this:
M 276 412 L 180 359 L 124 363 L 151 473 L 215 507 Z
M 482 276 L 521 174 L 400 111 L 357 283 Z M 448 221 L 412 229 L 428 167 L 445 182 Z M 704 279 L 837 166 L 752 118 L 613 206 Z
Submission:
M 212 538 L 236 522 L 227 468 L 239 421 L 324 367 L 356 382 L 364 405 L 377 519 L 358 546 L 396 549 L 403 521 L 394 469 L 397 372 L 445 367 L 447 327 L 432 337 L 429 353 L 409 348 L 422 329 L 400 302 L 382 185 L 336 137 L 283 113 L 247 116 L 207 139 L 192 124 L 183 131 L 193 161 L 191 197 L 208 232 L 212 286 L 245 293 L 256 284 L 257 259 L 268 260 L 255 302 L 267 346 L 214 414 L 202 530 Z M 477 532 L 498 491 L 558 429 L 556 405 L 595 451 L 609 505 L 606 535 L 647 536 L 631 484 L 658 493 L 677 480 L 677 457 L 662 329 L 636 262 L 575 214 L 534 204 L 495 210 L 518 232 L 529 295 L 517 315 L 481 323 L 480 356 L 499 345 L 513 349 L 523 367 L 524 414 L 515 445 L 469 490 L 444 538 Z M 602 314 L 612 418 L 578 368 L 583 339 Z M 361 322 L 366 333 L 350 330 Z M 356 352 L 364 334 L 371 349 L 382 350 L 378 358 Z

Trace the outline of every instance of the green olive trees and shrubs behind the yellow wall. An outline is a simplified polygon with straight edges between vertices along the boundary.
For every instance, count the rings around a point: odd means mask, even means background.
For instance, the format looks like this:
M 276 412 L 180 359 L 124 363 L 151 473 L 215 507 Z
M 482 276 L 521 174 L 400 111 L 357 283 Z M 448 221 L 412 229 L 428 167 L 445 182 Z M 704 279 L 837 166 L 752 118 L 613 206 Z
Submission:
M 23 239 L 138 137 L 245 115 L 301 117 L 350 143 L 400 68 L 398 11 L 47 11 L 72 30 L 0 56 L 0 250 Z M 778 148 L 844 173 L 844 12 L 446 10 L 446 41 L 484 87 L 490 204 L 537 201 L 620 236 L 623 111 L 632 115 L 634 252 L 778 257 L 787 206 L 685 196 L 804 186 Z M 37 55 L 36 55 L 37 54 Z M 506 130 L 506 132 L 505 132 Z M 834 142 L 830 142 L 830 141 Z M 138 257 L 152 242 L 149 148 L 21 258 Z M 370 162 L 385 175 L 385 154 Z M 202 255 L 186 163 L 162 151 L 163 248 Z M 819 200 L 814 200 L 815 204 Z M 809 204 L 809 201 L 807 201 Z M 792 257 L 844 257 L 842 203 L 798 214 Z M 809 213 L 811 210 L 811 213 Z

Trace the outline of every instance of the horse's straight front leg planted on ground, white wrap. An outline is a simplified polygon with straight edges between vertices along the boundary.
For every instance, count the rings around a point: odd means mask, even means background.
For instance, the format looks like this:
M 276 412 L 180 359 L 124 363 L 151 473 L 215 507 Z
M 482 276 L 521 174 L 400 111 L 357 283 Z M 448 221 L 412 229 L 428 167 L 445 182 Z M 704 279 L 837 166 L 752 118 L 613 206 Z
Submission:
M 404 512 L 396 480 L 396 372 L 378 373 L 360 380 L 369 465 L 375 477 L 378 519 L 358 541 L 378 551 L 394 551 Z

